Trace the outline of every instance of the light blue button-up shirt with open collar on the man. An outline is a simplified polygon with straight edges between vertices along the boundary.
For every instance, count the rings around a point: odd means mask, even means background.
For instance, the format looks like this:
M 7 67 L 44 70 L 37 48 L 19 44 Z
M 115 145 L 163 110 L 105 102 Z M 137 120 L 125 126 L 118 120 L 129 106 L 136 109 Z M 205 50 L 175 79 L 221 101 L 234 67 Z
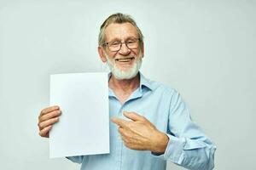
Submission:
M 82 163 L 81 170 L 165 170 L 166 161 L 192 170 L 214 167 L 216 147 L 201 128 L 192 122 L 187 105 L 173 88 L 150 81 L 140 73 L 140 86 L 122 105 L 109 88 L 109 115 L 127 119 L 123 111 L 146 117 L 169 137 L 165 153 L 126 148 L 118 127 L 110 122 L 110 154 L 71 156 Z

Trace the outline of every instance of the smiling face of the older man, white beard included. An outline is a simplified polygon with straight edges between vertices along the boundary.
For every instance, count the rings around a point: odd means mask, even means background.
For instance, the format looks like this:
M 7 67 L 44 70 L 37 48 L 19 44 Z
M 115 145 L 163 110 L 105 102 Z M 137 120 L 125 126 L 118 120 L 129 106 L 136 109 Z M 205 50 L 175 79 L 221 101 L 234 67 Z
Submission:
M 110 24 L 105 30 L 105 36 L 105 42 L 129 42 L 137 40 L 138 33 L 130 23 Z M 131 79 L 137 75 L 143 58 L 143 48 L 140 45 L 131 49 L 123 43 L 119 51 L 113 51 L 108 47 L 102 50 L 103 58 L 107 59 L 114 77 Z

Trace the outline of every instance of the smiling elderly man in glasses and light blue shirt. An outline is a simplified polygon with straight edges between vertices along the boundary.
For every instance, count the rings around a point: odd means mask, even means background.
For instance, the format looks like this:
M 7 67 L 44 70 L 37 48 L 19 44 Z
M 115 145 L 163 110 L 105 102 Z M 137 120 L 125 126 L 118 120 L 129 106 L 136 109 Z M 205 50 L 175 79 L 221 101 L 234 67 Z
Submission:
M 181 96 L 139 72 L 143 33 L 129 15 L 112 14 L 104 21 L 98 53 L 111 71 L 110 154 L 67 158 L 88 170 L 164 170 L 166 161 L 188 169 L 212 169 L 216 148 L 191 121 Z M 49 137 L 59 118 L 59 106 L 42 110 L 39 134 Z

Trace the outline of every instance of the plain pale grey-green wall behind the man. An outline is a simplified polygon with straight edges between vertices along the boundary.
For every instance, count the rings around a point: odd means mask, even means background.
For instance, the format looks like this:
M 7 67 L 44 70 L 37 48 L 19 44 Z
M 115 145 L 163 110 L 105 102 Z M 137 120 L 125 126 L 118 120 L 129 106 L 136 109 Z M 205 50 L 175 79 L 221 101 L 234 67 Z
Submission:
M 0 1 L 0 169 L 79 169 L 49 159 L 38 113 L 49 74 L 102 71 L 97 34 L 115 12 L 143 31 L 143 74 L 177 88 L 217 145 L 215 169 L 255 169 L 255 1 L 125 2 Z

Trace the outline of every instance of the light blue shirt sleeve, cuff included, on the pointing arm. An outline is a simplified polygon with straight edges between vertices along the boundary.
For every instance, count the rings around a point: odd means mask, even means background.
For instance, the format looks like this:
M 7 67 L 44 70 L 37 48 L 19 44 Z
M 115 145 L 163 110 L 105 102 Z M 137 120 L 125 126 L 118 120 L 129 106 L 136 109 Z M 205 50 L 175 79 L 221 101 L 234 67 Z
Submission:
M 178 93 L 172 96 L 168 120 L 169 142 L 161 159 L 191 170 L 212 170 L 216 146 L 191 120 L 189 109 Z

